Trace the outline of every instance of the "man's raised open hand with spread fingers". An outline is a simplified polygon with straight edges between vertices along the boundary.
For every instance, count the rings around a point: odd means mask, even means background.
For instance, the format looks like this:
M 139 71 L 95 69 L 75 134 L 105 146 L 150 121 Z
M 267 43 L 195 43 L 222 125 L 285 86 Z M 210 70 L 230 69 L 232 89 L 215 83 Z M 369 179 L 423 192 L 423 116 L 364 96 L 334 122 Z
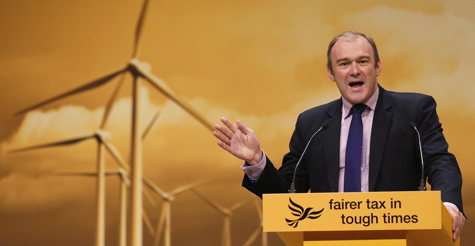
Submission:
M 220 140 L 217 142 L 218 146 L 251 166 L 258 164 L 262 160 L 263 154 L 254 131 L 239 120 L 237 126 L 224 117 L 221 118 L 221 122 L 229 130 L 221 125 L 214 126 L 222 134 L 217 131 L 213 132 L 213 135 Z

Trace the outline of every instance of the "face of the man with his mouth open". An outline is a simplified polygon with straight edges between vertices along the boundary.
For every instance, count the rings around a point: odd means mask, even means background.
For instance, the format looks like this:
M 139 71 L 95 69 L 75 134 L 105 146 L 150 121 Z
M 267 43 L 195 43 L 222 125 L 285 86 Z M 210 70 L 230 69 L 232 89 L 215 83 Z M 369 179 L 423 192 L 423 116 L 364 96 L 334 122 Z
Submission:
M 374 67 L 374 54 L 370 42 L 364 37 L 352 41 L 337 41 L 331 51 L 334 75 L 328 77 L 336 82 L 343 98 L 353 104 L 364 103 L 378 87 L 381 61 Z

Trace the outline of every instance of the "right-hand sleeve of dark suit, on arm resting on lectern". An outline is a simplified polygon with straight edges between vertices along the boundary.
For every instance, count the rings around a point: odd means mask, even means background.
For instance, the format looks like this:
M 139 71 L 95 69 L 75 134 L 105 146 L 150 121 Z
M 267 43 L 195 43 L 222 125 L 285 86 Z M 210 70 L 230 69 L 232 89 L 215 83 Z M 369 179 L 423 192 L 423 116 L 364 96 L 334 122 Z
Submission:
M 421 137 L 424 174 L 433 191 L 441 191 L 441 199 L 451 202 L 464 213 L 462 204 L 462 174 L 455 156 L 448 152 L 447 141 L 431 96 L 422 100 L 417 126 Z M 465 214 L 464 214 L 465 215 Z

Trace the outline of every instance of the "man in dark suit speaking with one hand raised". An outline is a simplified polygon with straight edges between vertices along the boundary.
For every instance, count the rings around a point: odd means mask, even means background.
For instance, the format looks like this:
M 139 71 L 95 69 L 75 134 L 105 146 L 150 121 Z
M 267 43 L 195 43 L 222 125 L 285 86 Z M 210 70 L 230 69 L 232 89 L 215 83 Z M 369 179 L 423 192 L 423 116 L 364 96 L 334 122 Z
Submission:
M 421 156 L 418 135 L 409 126 L 414 122 L 421 136 L 424 175 L 432 190 L 441 191 L 456 241 L 465 222 L 462 175 L 455 156 L 447 151 L 435 100 L 380 87 L 378 51 L 371 37 L 362 33 L 348 31 L 336 36 L 327 56 L 328 76 L 342 98 L 299 115 L 290 152 L 278 170 L 264 155 L 254 132 L 240 121 L 234 125 L 221 118 L 230 131 L 215 126 L 222 133 L 214 132 L 218 145 L 246 161 L 241 166 L 246 173 L 243 186 L 260 197 L 287 192 L 308 144 L 296 173 L 297 192 L 416 191 Z M 328 128 L 310 141 L 323 124 Z M 356 144 L 354 136 L 360 136 Z

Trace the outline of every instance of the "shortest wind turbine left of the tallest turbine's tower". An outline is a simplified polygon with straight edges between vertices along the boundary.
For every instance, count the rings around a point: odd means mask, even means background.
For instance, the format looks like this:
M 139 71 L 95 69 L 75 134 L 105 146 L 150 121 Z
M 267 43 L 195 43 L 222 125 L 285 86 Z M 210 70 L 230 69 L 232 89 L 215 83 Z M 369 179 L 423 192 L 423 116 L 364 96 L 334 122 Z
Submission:
M 71 172 L 54 172 L 53 175 L 61 176 L 97 176 L 97 172 L 92 171 L 71 171 Z M 130 186 L 128 173 L 125 169 L 118 168 L 115 170 L 107 170 L 104 173 L 108 175 L 118 175 L 120 178 L 120 219 L 119 219 L 119 246 L 126 246 L 126 227 L 127 227 L 127 187 Z

